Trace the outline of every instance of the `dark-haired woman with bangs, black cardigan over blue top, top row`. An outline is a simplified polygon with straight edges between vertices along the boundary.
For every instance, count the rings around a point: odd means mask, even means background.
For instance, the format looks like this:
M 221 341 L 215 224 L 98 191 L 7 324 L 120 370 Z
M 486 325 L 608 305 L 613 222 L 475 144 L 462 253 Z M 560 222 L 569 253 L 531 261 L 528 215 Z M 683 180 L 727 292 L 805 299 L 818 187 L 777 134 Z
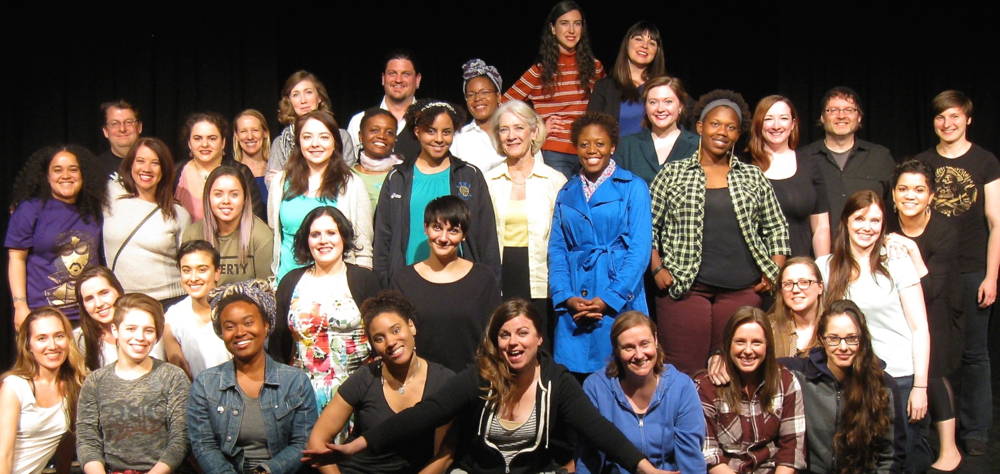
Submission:
M 610 76 L 594 83 L 588 112 L 603 112 L 618 120 L 623 137 L 638 133 L 643 116 L 646 81 L 667 73 L 660 48 L 660 30 L 648 21 L 632 25 L 622 38 Z M 680 105 L 684 105 L 683 100 Z M 693 151 L 693 150 L 692 150 Z

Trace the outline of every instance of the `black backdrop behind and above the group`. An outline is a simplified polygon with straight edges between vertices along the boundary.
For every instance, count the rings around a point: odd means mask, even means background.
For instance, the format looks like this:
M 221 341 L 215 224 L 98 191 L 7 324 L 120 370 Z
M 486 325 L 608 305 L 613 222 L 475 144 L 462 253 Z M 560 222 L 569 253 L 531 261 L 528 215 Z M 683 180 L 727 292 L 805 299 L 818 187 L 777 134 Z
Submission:
M 178 133 L 196 110 L 232 117 L 256 108 L 268 117 L 272 136 L 280 132 L 279 91 L 298 69 L 324 81 L 336 117 L 346 125 L 351 114 L 377 105 L 382 59 L 395 47 L 417 55 L 423 73 L 419 97 L 461 103 L 460 66 L 475 57 L 496 65 L 507 87 L 531 65 L 554 2 L 532 3 L 519 10 L 485 2 L 455 3 L 460 6 L 451 10 L 442 2 L 355 2 L 289 3 L 261 11 L 157 6 L 112 19 L 108 8 L 8 15 L 10 27 L 0 38 L 14 67 L 0 92 L 0 202 L 10 202 L 14 177 L 32 151 L 61 142 L 95 153 L 106 149 L 98 106 L 115 98 L 141 109 L 144 135 L 163 138 L 175 156 L 183 156 L 186 145 Z M 653 21 L 664 37 L 668 71 L 692 95 L 733 89 L 751 110 L 766 95 L 786 95 L 800 113 L 801 144 L 822 135 L 816 126 L 822 93 L 847 85 L 861 95 L 866 112 L 859 136 L 889 147 L 897 159 L 913 155 L 937 142 L 929 103 L 953 88 L 975 101 L 971 140 L 1000 150 L 994 133 L 1000 110 L 992 74 L 996 41 L 980 42 L 965 20 L 961 28 L 915 25 L 898 12 L 861 18 L 848 10 L 863 7 L 838 6 L 835 12 L 820 2 L 792 8 L 757 2 L 580 3 L 606 69 L 625 30 L 641 19 Z M 8 216 L 0 214 L 6 229 Z M 10 307 L 5 285 L 0 341 L 13 338 Z M 8 366 L 4 356 L 9 351 L 0 354 L 0 367 Z

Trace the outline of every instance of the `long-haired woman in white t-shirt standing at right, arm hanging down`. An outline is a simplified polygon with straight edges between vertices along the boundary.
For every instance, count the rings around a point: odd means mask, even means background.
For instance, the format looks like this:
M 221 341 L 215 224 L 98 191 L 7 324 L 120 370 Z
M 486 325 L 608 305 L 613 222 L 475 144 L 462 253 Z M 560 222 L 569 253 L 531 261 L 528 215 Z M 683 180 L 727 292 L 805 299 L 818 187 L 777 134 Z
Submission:
M 914 423 L 927 414 L 930 336 L 920 276 L 904 245 L 885 240 L 885 207 L 873 191 L 847 199 L 833 253 L 816 264 L 826 280 L 826 300 L 850 298 L 868 318 L 875 355 L 899 386 L 906 423 L 906 458 L 920 471 L 929 447 Z M 903 237 L 898 237 L 902 239 Z M 883 249 L 886 245 L 889 248 Z M 927 450 L 926 452 L 924 450 Z M 929 463 L 928 463 L 929 464 Z

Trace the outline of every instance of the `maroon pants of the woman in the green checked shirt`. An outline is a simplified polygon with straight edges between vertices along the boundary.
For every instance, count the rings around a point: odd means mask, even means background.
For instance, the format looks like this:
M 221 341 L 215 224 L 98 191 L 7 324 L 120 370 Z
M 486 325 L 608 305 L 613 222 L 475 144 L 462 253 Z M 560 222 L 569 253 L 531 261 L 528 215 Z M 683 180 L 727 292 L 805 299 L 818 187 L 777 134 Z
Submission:
M 656 297 L 657 332 L 667 362 L 694 376 L 705 368 L 713 349 L 721 348 L 726 323 L 743 306 L 760 307 L 753 287 L 727 290 L 695 283 L 679 300 L 666 292 Z

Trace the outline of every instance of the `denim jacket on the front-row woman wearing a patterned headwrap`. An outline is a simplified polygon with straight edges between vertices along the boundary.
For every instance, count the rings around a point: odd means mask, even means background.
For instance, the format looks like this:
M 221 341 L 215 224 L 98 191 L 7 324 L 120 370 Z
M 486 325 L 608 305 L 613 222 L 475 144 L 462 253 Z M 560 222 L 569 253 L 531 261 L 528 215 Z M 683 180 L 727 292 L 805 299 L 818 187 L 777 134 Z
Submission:
M 271 474 L 294 473 L 316 424 L 316 396 L 305 372 L 265 357 L 259 400 L 271 459 L 264 466 Z M 243 472 L 243 450 L 236 447 L 242 411 L 235 362 L 198 374 L 188 404 L 188 436 L 205 472 Z

